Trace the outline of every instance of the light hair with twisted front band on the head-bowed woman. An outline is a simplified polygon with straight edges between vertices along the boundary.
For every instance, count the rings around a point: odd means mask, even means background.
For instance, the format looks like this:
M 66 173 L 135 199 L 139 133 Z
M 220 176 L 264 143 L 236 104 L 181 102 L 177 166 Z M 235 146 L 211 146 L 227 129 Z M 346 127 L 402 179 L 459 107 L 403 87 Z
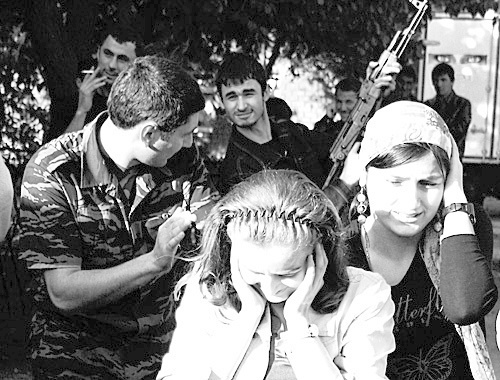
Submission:
M 261 244 L 314 246 L 321 241 L 328 266 L 323 288 L 312 307 L 319 313 L 331 313 L 338 308 L 349 285 L 341 223 L 333 203 L 305 175 L 294 170 L 254 174 L 234 186 L 206 220 L 194 271 L 206 299 L 215 305 L 229 302 L 240 310 L 241 302 L 231 281 L 229 223 Z

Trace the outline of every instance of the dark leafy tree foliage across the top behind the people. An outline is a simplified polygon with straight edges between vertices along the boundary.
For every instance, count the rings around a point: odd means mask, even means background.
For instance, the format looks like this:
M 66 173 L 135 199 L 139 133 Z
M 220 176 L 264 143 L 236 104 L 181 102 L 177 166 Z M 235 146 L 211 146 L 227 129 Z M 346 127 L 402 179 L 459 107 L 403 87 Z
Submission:
M 336 76 L 363 76 L 395 31 L 414 13 L 407 0 L 18 0 L 0 11 L 3 150 L 22 167 L 56 110 L 72 110 L 79 63 L 95 51 L 106 22 L 142 31 L 148 53 L 182 60 L 206 92 L 225 52 L 253 54 L 268 71 L 278 57 L 313 72 L 326 85 Z M 433 10 L 483 15 L 498 0 L 431 0 Z M 430 15 L 430 12 L 429 12 Z M 403 63 L 418 58 L 417 35 Z M 47 90 L 52 102 L 33 95 Z M 69 111 L 68 111 L 69 112 Z

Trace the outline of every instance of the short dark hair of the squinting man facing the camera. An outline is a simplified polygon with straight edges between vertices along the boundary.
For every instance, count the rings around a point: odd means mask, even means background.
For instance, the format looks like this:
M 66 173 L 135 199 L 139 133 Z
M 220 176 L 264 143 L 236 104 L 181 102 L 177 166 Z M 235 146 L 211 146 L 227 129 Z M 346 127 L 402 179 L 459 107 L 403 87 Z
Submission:
M 217 91 L 221 95 L 222 85 L 240 84 L 248 79 L 255 79 L 259 82 L 262 92 L 267 89 L 267 74 L 262 65 L 253 57 L 244 53 L 230 53 L 226 55 L 222 62 L 215 84 Z

